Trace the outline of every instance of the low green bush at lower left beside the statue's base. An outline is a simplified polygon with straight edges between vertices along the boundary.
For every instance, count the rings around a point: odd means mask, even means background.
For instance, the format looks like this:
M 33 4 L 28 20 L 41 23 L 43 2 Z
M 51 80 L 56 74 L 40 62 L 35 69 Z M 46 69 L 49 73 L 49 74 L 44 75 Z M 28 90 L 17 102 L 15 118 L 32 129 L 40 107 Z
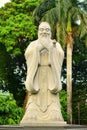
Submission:
M 18 107 L 13 95 L 0 93 L 0 125 L 19 124 L 24 111 Z

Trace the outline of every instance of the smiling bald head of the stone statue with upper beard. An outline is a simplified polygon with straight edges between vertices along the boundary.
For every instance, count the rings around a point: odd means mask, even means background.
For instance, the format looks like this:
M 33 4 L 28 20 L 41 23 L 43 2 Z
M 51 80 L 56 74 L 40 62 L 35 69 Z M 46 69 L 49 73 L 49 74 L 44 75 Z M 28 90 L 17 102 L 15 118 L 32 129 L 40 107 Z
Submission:
M 51 38 L 51 28 L 49 23 L 42 22 L 38 28 L 38 38 Z

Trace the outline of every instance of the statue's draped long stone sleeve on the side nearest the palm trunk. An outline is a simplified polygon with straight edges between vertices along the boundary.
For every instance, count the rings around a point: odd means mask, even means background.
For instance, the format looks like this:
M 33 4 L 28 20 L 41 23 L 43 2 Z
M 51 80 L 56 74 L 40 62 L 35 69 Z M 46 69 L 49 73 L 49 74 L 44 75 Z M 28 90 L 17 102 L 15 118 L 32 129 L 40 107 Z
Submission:
M 62 89 L 61 85 L 61 68 L 64 59 L 64 52 L 59 43 L 50 49 L 50 62 L 52 67 L 52 72 L 54 76 L 55 85 L 50 90 L 56 93 Z

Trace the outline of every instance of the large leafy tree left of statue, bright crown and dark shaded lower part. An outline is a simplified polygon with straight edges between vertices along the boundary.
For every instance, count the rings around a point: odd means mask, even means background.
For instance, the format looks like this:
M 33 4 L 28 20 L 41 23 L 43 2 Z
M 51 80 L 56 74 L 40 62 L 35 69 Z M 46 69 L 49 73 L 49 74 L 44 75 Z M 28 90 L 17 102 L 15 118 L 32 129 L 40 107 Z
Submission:
M 39 2 L 15 0 L 0 8 L 0 89 L 13 93 L 18 105 L 23 105 L 25 97 L 24 52 L 30 41 L 36 39 L 32 13 Z

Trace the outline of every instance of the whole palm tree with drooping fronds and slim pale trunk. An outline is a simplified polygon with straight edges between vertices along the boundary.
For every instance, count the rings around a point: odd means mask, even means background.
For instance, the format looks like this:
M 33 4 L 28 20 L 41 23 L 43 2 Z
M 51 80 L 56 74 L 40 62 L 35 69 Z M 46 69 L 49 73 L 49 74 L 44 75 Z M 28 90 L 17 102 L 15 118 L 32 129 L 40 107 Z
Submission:
M 72 51 L 73 35 L 78 29 L 75 22 L 79 19 L 79 34 L 86 34 L 87 15 L 79 7 L 78 0 L 44 0 L 34 11 L 37 24 L 47 21 L 52 28 L 53 37 L 65 46 L 67 45 L 67 113 L 70 115 L 68 123 L 72 123 Z

